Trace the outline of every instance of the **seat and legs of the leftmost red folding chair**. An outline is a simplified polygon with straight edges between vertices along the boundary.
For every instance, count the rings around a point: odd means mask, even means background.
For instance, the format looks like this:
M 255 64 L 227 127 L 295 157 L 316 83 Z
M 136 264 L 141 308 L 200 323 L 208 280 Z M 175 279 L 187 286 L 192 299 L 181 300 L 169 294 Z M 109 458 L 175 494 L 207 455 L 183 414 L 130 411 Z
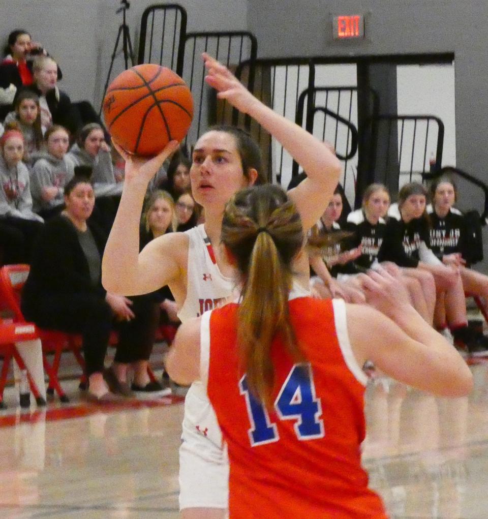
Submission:
M 0 356 L 3 357 L 2 371 L 0 372 L 0 408 L 5 409 L 6 405 L 3 400 L 4 389 L 7 385 L 8 368 L 11 364 L 11 360 L 14 359 L 17 362 L 20 370 L 26 370 L 29 385 L 31 387 L 32 394 L 36 399 L 37 405 L 46 405 L 46 401 L 40 396 L 39 390 L 27 370 L 24 360 L 17 351 L 15 343 L 22 342 L 24 340 L 35 340 L 38 339 L 36 327 L 33 323 L 10 323 L 0 319 Z

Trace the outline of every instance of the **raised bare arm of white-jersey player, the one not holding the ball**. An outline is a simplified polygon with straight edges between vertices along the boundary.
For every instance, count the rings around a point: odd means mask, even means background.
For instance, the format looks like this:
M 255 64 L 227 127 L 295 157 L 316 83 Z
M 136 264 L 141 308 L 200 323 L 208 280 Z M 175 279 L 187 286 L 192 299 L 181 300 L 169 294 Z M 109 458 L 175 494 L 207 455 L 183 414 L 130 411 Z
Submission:
M 307 231 L 320 218 L 337 186 L 341 163 L 327 143 L 316 139 L 294 122 L 274 112 L 256 99 L 221 63 L 202 54 L 207 68 L 207 83 L 218 90 L 240 112 L 249 114 L 265 128 L 300 164 L 307 178 L 289 193 Z

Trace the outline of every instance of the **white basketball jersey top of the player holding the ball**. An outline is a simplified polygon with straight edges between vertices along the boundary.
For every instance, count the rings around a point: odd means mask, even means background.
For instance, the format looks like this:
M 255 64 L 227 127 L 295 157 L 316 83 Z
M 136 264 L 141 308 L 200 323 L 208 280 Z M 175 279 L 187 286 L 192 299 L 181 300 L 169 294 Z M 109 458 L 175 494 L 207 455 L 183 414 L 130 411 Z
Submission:
M 186 299 L 178 317 L 182 322 L 222 305 L 232 295 L 234 281 L 222 275 L 215 262 L 204 224 L 185 231 L 189 238 Z

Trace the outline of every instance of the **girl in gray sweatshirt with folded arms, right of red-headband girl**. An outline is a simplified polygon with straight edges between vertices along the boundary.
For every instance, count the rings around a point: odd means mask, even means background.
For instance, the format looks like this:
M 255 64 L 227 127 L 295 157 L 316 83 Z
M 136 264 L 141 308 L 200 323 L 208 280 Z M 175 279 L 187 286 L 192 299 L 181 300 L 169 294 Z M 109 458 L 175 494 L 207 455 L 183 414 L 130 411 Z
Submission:
M 31 193 L 34 211 L 48 220 L 64 207 L 64 186 L 74 176 L 74 164 L 66 157 L 70 145 L 70 134 L 66 128 L 51 126 L 44 140 L 46 151 L 34 156 Z

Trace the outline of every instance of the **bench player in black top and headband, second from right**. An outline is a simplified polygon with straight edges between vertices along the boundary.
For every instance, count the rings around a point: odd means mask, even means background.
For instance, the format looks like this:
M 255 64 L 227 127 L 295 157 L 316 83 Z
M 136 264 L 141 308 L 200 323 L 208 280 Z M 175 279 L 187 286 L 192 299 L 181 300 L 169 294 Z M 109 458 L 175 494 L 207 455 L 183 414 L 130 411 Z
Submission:
M 455 344 L 468 352 L 488 350 L 488 338 L 468 327 L 463 282 L 459 269 L 443 265 L 430 249 L 430 220 L 426 212 L 427 191 L 422 184 L 405 184 L 398 193 L 398 207 L 389 211 L 385 238 L 378 261 L 392 261 L 402 267 L 427 270 L 437 291 L 434 324 L 449 326 Z M 443 320 L 445 319 L 445 320 Z

